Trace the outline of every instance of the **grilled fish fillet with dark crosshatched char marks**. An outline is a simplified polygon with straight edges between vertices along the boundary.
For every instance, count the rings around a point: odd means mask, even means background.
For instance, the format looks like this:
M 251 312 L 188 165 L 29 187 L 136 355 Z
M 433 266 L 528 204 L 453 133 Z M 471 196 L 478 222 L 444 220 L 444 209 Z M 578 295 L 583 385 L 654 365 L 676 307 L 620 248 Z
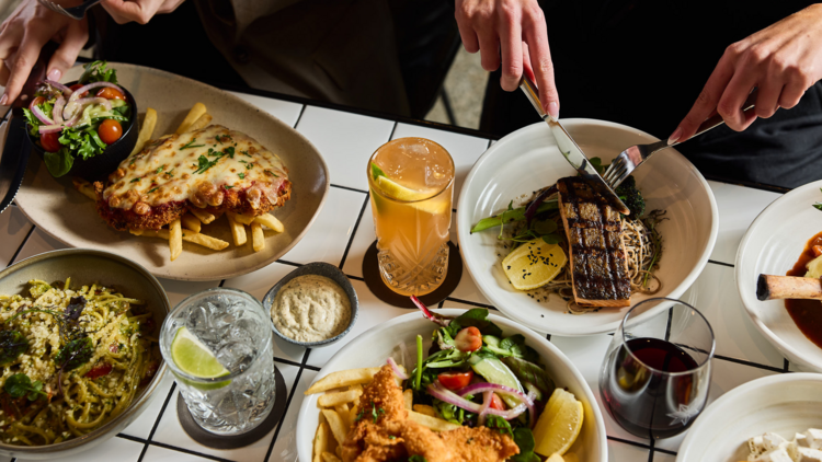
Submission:
M 584 180 L 561 178 L 559 211 L 569 239 L 573 297 L 582 307 L 628 307 L 631 287 L 623 220 Z

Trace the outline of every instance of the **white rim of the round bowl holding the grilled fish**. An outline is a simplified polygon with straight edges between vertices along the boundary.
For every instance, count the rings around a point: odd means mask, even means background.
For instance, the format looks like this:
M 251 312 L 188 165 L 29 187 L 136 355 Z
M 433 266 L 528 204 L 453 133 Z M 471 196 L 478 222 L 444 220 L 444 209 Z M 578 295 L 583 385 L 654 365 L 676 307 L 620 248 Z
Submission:
M 659 138 L 654 137 L 653 135 L 650 135 L 650 134 L 647 134 L 647 132 L 644 132 L 642 130 L 629 127 L 627 125 L 617 124 L 617 123 L 614 123 L 614 122 L 597 120 L 597 119 L 593 119 L 593 118 L 567 118 L 567 119 L 562 119 L 562 124 L 566 127 L 569 127 L 569 128 L 573 128 L 573 127 L 578 127 L 578 126 L 598 126 L 598 127 L 617 128 L 617 129 L 621 129 L 621 130 L 626 130 L 626 131 L 630 131 L 630 132 L 637 134 L 637 135 L 642 136 L 642 137 L 647 137 L 649 139 L 648 140 L 649 142 L 653 142 L 654 140 L 659 141 Z M 465 204 L 465 201 L 468 200 L 466 198 L 466 196 L 468 195 L 468 189 L 469 188 L 466 187 L 466 185 L 468 185 L 468 184 L 471 183 L 471 181 L 473 180 L 473 177 L 477 175 L 477 172 L 478 172 L 480 165 L 483 162 L 488 161 L 488 159 L 490 157 L 494 155 L 495 151 L 498 149 L 500 149 L 499 148 L 500 146 L 504 147 L 504 146 L 513 142 L 512 139 L 515 139 L 516 136 L 517 136 L 517 134 L 522 135 L 525 131 L 534 130 L 534 129 L 536 129 L 537 126 L 541 127 L 543 123 L 537 122 L 537 123 L 534 123 L 532 125 L 527 125 L 525 127 L 522 127 L 518 130 L 513 131 L 513 132 L 506 135 L 505 137 L 501 138 L 499 141 L 496 141 L 495 143 L 493 143 L 491 147 L 489 147 L 488 150 L 486 150 L 486 152 L 483 152 L 482 155 L 480 155 L 480 158 L 477 160 L 477 162 L 475 162 L 473 166 L 471 168 L 471 171 L 468 173 L 468 175 L 466 176 L 465 181 L 463 182 L 463 189 L 459 193 L 459 204 Z M 671 150 L 670 152 L 665 152 L 664 155 L 678 157 L 682 161 L 684 161 L 686 163 L 687 168 L 689 169 L 689 172 L 694 174 L 694 176 L 698 181 L 699 185 L 701 185 L 703 188 L 705 189 L 705 192 L 707 193 L 708 201 L 710 204 L 710 221 L 711 221 L 710 222 L 710 232 L 708 234 L 708 242 L 706 243 L 705 247 L 703 249 L 701 255 L 699 255 L 697 264 L 692 268 L 690 273 L 688 273 L 688 275 L 685 277 L 685 279 L 683 279 L 680 282 L 680 285 L 677 285 L 676 287 L 674 287 L 669 293 L 666 293 L 666 294 L 659 294 L 658 296 L 658 297 L 666 297 L 666 298 L 678 299 L 680 297 L 682 297 L 683 293 L 685 293 L 686 290 L 688 290 L 690 288 L 690 286 L 694 285 L 694 282 L 696 281 L 696 279 L 703 273 L 703 269 L 705 269 L 705 266 L 708 264 L 708 259 L 710 258 L 710 254 L 713 252 L 713 246 L 717 243 L 717 235 L 719 234 L 719 210 L 718 210 L 718 207 L 717 207 L 717 200 L 713 197 L 713 190 L 711 189 L 710 185 L 708 184 L 708 181 L 705 180 L 705 176 L 703 176 L 703 174 L 697 170 L 697 168 L 694 166 L 694 164 L 690 163 L 690 161 L 688 161 L 687 158 L 685 158 L 685 155 L 683 155 L 682 153 L 680 153 L 676 150 Z M 470 219 L 470 217 L 468 217 L 468 212 L 469 212 L 468 210 L 469 210 L 468 207 L 458 207 L 457 208 L 457 222 L 458 223 L 459 222 L 465 222 L 465 223 L 468 222 L 468 220 Z M 470 229 L 470 227 L 460 227 L 460 226 L 457 227 L 457 235 L 458 235 L 459 242 L 467 242 L 467 240 L 470 238 L 469 229 Z M 465 267 L 468 269 L 468 274 L 471 275 L 471 279 L 473 280 L 475 286 L 477 286 L 477 288 L 480 290 L 480 292 L 482 292 L 482 294 L 489 301 L 491 301 L 491 303 L 494 304 L 494 307 L 500 308 L 501 303 L 496 302 L 494 300 L 494 298 L 489 294 L 490 292 L 488 290 L 486 290 L 482 287 L 481 284 L 477 284 L 477 280 L 473 278 L 473 274 L 471 273 L 471 266 L 472 265 L 477 266 L 476 257 L 473 255 L 469 254 L 468 252 L 465 252 L 463 245 L 459 246 L 459 253 L 463 256 L 463 261 L 465 262 Z M 638 316 L 638 319 L 650 317 L 651 315 L 658 314 L 665 307 L 663 304 L 660 304 L 659 307 L 654 307 L 653 309 L 648 310 L 644 313 L 640 314 Z M 509 310 L 509 309 L 502 310 L 502 309 L 500 309 L 500 311 L 502 311 L 506 316 L 511 316 L 512 320 L 525 324 L 526 326 L 528 326 L 528 328 L 534 328 L 534 327 L 530 327 L 528 325 L 527 320 L 521 319 L 520 316 L 516 315 L 516 310 Z M 563 331 L 561 326 L 558 326 L 556 330 L 553 330 L 551 332 L 546 332 L 546 333 L 551 334 L 551 335 L 563 335 L 563 336 L 583 336 L 583 335 L 605 334 L 605 333 L 615 332 L 618 324 L 619 324 L 619 322 L 617 322 L 616 325 L 614 325 L 613 328 L 609 328 L 607 325 L 595 325 L 592 330 L 586 331 L 586 332 L 567 332 L 567 331 Z M 541 331 L 536 330 L 536 328 L 534 328 L 534 330 L 537 331 L 537 332 L 541 332 Z

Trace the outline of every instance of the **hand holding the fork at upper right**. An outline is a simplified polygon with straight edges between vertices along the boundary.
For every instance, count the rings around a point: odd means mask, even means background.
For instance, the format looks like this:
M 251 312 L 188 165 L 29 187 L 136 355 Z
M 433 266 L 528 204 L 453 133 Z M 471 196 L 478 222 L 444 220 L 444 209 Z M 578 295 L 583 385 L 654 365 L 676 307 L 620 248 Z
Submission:
M 756 117 L 789 109 L 822 79 L 822 5 L 804 10 L 729 46 L 710 74 L 694 107 L 669 138 L 669 145 L 694 136 L 715 112 L 735 131 Z M 753 88 L 756 107 L 742 112 Z

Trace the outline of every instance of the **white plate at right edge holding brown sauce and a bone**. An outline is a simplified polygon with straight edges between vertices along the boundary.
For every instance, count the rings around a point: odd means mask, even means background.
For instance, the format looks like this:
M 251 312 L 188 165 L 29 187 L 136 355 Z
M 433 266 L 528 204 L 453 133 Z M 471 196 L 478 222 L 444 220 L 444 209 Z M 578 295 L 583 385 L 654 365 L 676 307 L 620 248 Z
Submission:
M 737 288 L 756 328 L 791 362 L 822 371 L 822 348 L 799 331 L 783 300 L 756 299 L 760 274 L 784 275 L 804 244 L 822 231 L 822 181 L 808 183 L 774 200 L 751 223 L 737 251 Z M 822 310 L 822 304 L 820 305 Z

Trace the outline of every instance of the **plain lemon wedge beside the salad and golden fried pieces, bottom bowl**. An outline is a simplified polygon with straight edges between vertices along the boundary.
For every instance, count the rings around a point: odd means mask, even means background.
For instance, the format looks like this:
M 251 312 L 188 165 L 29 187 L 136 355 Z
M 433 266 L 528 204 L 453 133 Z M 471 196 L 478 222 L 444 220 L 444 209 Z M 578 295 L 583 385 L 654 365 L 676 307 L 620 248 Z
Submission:
M 573 393 L 556 389 L 534 427 L 534 451 L 543 455 L 564 454 L 582 430 L 582 403 Z

